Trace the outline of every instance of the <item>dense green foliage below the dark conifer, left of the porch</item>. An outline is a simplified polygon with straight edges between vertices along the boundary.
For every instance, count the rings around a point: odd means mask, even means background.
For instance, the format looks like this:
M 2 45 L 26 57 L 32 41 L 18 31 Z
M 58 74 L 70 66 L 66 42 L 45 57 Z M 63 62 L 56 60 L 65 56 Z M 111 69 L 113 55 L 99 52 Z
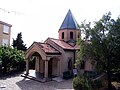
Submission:
M 21 70 L 25 67 L 24 52 L 9 46 L 0 47 L 0 66 L 5 74 L 12 70 Z

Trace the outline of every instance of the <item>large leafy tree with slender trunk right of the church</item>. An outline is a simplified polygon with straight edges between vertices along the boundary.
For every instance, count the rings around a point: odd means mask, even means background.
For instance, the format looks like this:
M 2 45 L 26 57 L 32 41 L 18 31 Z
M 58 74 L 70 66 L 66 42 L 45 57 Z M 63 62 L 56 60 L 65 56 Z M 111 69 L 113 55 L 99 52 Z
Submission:
M 111 19 L 109 12 L 95 22 L 93 28 L 90 24 L 82 24 L 81 29 L 85 32 L 85 38 L 79 41 L 82 51 L 78 61 L 92 57 L 96 61 L 96 69 L 107 73 L 108 90 L 112 90 L 111 75 L 120 70 L 120 18 Z

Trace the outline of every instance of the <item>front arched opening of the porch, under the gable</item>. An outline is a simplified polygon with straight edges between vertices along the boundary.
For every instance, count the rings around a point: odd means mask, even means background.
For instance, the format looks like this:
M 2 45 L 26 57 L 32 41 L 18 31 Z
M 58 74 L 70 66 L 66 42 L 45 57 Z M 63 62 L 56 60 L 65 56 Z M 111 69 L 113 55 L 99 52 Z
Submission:
M 44 78 L 44 60 L 38 52 L 29 55 L 29 76 Z

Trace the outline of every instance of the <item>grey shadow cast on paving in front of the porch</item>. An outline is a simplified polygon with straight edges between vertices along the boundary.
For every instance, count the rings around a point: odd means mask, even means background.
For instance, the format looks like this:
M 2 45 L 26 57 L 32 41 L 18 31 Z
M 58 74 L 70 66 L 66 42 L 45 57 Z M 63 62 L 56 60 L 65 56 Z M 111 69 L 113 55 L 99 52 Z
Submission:
M 65 80 L 62 82 L 50 81 L 40 83 L 34 80 L 23 79 L 16 82 L 21 90 L 73 90 L 72 80 Z

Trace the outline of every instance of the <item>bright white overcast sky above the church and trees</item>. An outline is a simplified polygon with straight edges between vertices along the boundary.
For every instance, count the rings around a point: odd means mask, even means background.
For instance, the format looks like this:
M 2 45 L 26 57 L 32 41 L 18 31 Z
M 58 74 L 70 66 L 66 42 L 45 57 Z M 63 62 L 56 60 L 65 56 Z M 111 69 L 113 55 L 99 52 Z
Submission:
M 22 32 L 29 47 L 34 41 L 43 42 L 48 37 L 58 38 L 58 30 L 71 10 L 78 24 L 97 21 L 103 14 L 120 15 L 120 0 L 0 0 L 0 21 L 12 25 L 12 39 Z

